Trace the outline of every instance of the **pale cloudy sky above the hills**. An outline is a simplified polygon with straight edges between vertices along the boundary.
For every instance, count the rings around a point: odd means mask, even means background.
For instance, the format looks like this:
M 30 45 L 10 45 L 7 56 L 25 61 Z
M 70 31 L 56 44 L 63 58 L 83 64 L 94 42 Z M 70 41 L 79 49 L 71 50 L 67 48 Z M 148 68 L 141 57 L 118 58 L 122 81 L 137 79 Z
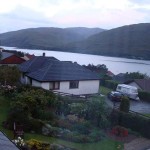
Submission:
M 0 0 L 0 33 L 37 27 L 149 23 L 150 0 Z

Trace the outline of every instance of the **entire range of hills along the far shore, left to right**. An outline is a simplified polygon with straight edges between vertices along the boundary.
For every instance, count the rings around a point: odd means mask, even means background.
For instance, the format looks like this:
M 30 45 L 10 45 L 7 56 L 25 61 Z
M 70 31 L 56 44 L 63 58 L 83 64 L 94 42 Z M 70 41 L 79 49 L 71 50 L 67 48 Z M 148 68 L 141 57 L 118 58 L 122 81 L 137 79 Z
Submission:
M 1 43 L 18 48 L 150 59 L 150 23 L 126 25 L 110 30 L 41 27 L 23 31 L 0 34 Z

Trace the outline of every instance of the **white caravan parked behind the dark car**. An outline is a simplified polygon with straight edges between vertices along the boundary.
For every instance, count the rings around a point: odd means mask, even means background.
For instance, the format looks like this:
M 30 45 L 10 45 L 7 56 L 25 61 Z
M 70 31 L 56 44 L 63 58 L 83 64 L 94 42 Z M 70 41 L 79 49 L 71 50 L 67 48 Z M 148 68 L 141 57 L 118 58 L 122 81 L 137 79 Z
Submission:
M 138 97 L 138 89 L 131 85 L 118 84 L 116 91 L 128 96 L 134 100 L 140 100 Z

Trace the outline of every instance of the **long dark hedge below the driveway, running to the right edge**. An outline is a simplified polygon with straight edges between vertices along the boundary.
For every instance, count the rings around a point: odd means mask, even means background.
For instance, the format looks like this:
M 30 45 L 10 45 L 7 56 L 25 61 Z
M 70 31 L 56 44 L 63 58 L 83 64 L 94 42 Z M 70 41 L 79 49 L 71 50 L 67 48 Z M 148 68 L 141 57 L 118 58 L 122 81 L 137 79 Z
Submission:
M 113 126 L 120 125 L 130 128 L 133 131 L 140 133 L 146 138 L 150 138 L 150 118 L 142 117 L 132 113 L 124 113 L 114 110 L 111 114 Z

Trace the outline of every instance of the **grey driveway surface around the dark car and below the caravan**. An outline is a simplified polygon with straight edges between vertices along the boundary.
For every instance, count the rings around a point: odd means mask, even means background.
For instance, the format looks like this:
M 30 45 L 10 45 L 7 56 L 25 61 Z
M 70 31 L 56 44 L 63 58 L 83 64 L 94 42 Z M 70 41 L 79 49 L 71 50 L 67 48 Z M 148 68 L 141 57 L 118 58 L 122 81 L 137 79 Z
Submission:
M 114 103 L 106 97 L 106 103 L 113 108 Z M 115 105 L 120 105 L 120 102 L 115 102 Z M 142 113 L 150 114 L 150 103 L 143 101 L 130 100 L 130 110 Z

